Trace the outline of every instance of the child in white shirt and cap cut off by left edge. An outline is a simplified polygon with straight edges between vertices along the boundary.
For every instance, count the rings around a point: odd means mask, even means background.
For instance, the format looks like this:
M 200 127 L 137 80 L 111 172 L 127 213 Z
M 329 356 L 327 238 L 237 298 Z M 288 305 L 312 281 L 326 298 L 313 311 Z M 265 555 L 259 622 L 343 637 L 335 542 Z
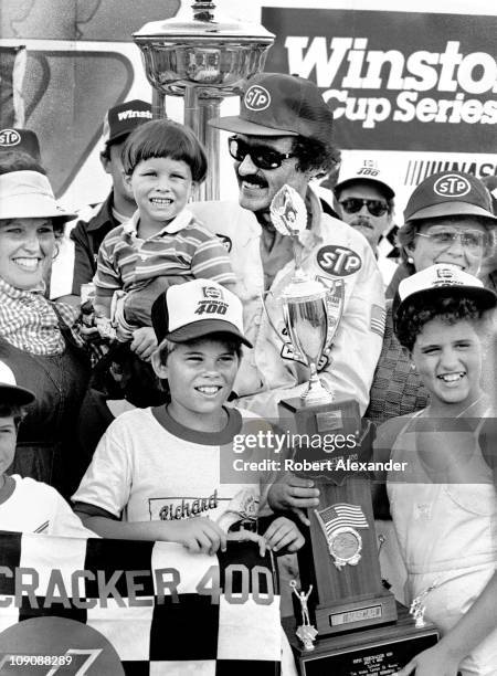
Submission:
M 33 401 L 34 394 L 20 388 L 12 370 L 0 361 L 0 530 L 95 537 L 55 488 L 18 474 L 7 474 L 15 454 L 25 406 Z

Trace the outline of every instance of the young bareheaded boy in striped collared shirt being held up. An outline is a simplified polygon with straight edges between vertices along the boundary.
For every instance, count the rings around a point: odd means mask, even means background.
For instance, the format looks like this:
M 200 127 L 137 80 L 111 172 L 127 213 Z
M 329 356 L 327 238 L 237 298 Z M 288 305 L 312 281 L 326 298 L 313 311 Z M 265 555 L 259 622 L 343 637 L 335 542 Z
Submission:
M 222 242 L 186 208 L 208 169 L 188 127 L 167 119 L 141 125 L 126 141 L 123 168 L 138 210 L 101 245 L 95 309 L 105 317 L 115 309 L 118 338 L 148 360 L 157 345 L 150 307 L 161 292 L 194 278 L 233 291 L 235 276 Z

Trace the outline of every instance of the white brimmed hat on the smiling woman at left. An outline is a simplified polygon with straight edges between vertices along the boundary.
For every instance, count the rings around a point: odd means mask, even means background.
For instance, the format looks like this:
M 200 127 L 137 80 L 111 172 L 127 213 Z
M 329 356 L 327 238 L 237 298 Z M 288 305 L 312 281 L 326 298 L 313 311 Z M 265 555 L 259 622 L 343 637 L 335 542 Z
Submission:
M 10 171 L 0 176 L 0 219 L 59 219 L 70 221 L 55 200 L 49 179 L 39 171 Z

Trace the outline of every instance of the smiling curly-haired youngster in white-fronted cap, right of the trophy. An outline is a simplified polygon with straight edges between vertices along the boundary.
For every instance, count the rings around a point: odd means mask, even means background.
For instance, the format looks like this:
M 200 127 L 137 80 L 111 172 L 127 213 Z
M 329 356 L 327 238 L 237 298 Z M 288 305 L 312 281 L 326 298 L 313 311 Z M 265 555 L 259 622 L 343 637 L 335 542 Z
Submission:
M 496 402 L 480 377 L 497 296 L 437 264 L 402 281 L 399 300 L 395 332 L 431 399 L 379 429 L 376 460 L 404 463 L 388 473 L 387 492 L 408 602 L 417 599 L 442 633 L 400 675 L 495 676 L 497 462 L 488 422 Z

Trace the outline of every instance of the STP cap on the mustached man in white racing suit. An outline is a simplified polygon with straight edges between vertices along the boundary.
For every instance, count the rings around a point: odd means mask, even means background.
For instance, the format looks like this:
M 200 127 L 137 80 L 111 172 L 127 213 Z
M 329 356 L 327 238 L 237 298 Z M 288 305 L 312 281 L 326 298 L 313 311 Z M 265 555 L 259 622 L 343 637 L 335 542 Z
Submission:
M 253 136 L 331 138 L 334 115 L 317 86 L 296 75 L 258 73 L 243 87 L 240 115 L 215 117 L 219 129 Z

